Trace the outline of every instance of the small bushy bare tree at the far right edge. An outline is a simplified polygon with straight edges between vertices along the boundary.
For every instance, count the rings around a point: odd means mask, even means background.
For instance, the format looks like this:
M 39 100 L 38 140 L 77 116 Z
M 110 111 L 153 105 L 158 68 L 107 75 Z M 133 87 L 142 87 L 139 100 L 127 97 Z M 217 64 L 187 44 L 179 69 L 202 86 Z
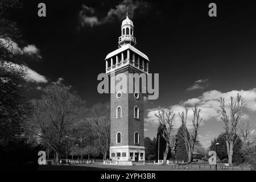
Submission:
M 243 140 L 243 145 L 251 139 L 251 133 L 256 129 L 256 115 L 255 111 L 250 111 L 248 116 L 242 117 L 241 121 L 238 123 L 238 134 Z

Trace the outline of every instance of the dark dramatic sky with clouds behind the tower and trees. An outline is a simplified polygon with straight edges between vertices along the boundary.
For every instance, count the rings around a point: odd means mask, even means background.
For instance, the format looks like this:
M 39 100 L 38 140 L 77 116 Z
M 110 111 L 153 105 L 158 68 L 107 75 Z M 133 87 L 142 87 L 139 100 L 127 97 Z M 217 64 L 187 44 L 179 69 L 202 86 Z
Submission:
M 147 100 L 144 136 L 156 137 L 155 113 L 172 109 L 176 116 L 200 103 L 199 140 L 224 131 L 220 97 L 240 93 L 247 109 L 256 110 L 256 6 L 250 1 L 214 1 L 217 17 L 208 15 L 212 1 L 29 1 L 13 19 L 36 60 L 27 61 L 30 98 L 40 98 L 52 82 L 72 85 L 87 106 L 110 101 L 97 92 L 105 57 L 118 48 L 121 22 L 128 5 L 137 49 L 150 59 L 149 72 L 159 73 L 159 98 Z M 38 4 L 46 4 L 46 17 Z M 188 128 L 192 110 L 189 108 Z M 180 126 L 175 119 L 174 134 Z

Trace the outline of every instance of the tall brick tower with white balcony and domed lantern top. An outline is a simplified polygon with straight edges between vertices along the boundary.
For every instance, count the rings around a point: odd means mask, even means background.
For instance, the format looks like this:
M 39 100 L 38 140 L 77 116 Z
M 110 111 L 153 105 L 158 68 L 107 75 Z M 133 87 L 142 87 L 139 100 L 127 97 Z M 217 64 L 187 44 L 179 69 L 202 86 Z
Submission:
M 128 14 L 121 26 L 118 49 L 106 56 L 106 74 L 148 74 L 148 57 L 135 48 L 134 25 Z M 128 88 L 127 79 L 127 88 Z M 141 90 L 141 89 L 139 89 Z M 110 158 L 112 160 L 144 161 L 143 93 L 111 93 Z

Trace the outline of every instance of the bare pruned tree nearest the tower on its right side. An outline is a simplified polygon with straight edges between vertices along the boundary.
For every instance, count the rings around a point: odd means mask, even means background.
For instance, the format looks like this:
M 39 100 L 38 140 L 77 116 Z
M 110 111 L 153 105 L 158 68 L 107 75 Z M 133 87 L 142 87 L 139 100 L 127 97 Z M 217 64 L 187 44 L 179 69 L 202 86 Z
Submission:
M 173 137 L 171 135 L 172 129 L 174 127 L 174 117 L 175 114 L 173 111 L 158 111 L 158 114 L 155 114 L 158 118 L 159 125 L 163 127 L 162 137 L 166 140 L 166 150 L 164 151 L 163 165 L 166 165 L 167 155 L 169 152 L 169 147 L 173 143 Z

